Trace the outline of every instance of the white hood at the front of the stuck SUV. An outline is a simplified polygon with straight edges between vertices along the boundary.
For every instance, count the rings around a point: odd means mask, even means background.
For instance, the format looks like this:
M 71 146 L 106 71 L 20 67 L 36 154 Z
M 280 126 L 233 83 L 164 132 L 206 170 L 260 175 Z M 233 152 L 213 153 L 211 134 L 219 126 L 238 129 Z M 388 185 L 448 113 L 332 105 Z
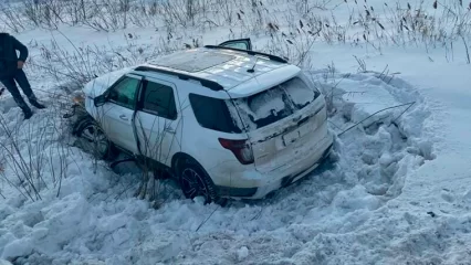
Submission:
M 101 75 L 86 83 L 82 91 L 85 96 L 95 98 L 102 95 L 113 83 L 119 80 L 119 77 L 122 77 L 124 74 L 129 73 L 136 66 L 129 66 Z

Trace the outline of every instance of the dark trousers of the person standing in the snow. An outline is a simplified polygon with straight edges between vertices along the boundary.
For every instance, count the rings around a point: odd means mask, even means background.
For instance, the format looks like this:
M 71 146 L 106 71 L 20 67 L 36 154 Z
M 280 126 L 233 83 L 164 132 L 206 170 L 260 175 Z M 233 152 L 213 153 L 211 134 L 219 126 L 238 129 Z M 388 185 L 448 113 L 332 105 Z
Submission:
M 29 102 L 35 102 L 36 97 L 34 96 L 33 91 L 31 89 L 30 82 L 28 81 L 27 75 L 23 70 L 17 70 L 14 76 L 2 78 L 0 82 L 7 87 L 10 92 L 11 96 L 13 96 L 14 102 L 23 112 L 31 112 L 31 108 L 27 105 L 23 97 L 20 94 L 20 89 L 18 89 L 18 85 L 23 91 L 24 95 L 28 97 Z

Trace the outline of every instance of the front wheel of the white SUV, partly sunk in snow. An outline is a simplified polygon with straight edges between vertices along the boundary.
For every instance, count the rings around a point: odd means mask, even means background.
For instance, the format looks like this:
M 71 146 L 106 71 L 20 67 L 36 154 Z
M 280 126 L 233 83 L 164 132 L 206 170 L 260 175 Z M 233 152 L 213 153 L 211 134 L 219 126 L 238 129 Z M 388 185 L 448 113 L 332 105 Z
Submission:
M 75 135 L 80 139 L 81 147 L 97 159 L 112 160 L 116 158 L 118 151 L 92 117 L 86 116 L 77 121 Z

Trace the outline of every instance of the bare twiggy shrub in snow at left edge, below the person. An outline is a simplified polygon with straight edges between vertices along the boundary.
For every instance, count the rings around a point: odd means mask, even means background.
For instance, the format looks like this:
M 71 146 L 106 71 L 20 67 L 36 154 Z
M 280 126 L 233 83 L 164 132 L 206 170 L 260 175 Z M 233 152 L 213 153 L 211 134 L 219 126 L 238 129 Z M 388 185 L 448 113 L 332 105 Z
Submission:
M 66 177 L 71 149 L 63 145 L 67 134 L 59 106 L 36 114 L 28 123 L 17 123 L 0 115 L 0 178 L 25 199 L 42 200 L 41 191 L 61 189 Z

